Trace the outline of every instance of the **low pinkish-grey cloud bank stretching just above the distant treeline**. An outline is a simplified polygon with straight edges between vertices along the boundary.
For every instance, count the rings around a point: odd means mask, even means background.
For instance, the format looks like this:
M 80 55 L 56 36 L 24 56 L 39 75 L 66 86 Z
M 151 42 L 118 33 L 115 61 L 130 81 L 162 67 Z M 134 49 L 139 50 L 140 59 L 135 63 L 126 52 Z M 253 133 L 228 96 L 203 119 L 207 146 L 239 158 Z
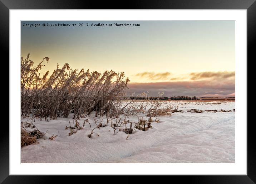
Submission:
M 150 96 L 197 96 L 197 97 L 233 97 L 235 96 L 235 80 L 222 81 L 179 81 L 179 82 L 151 82 L 129 83 L 129 94 L 135 95 L 149 92 Z

